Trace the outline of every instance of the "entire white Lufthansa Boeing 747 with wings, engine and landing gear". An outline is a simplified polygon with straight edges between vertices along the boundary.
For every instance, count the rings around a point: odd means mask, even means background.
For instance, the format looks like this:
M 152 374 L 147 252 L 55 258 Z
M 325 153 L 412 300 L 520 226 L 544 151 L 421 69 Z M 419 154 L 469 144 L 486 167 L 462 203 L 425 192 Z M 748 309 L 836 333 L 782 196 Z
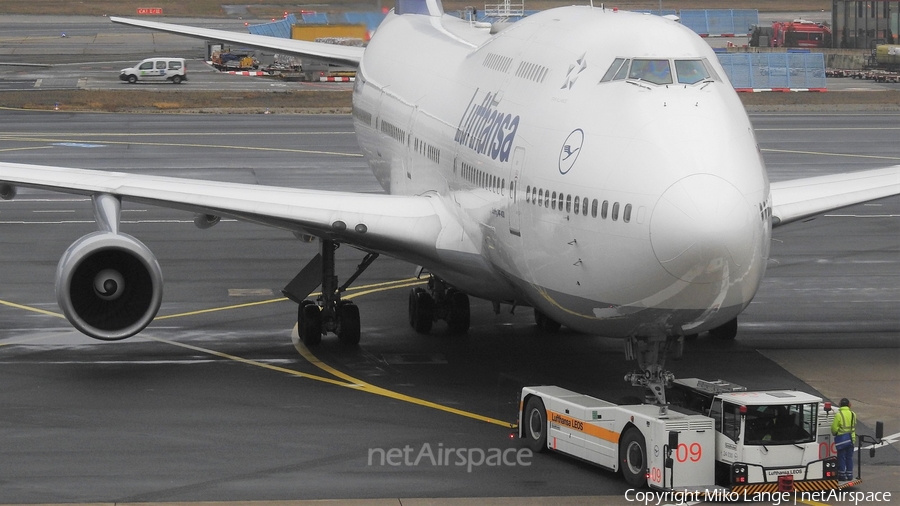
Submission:
M 466 332 L 469 296 L 531 306 L 545 329 L 624 339 L 632 383 L 664 403 L 684 336 L 734 337 L 773 227 L 900 193 L 900 166 L 770 184 L 715 54 L 662 17 L 575 6 L 498 31 L 440 0 L 398 0 L 365 49 L 112 21 L 357 65 L 355 129 L 388 194 L 0 163 L 5 199 L 19 186 L 92 197 L 99 231 L 64 254 L 56 286 L 97 339 L 140 332 L 162 298 L 155 257 L 119 230 L 127 199 L 197 213 L 201 228 L 229 217 L 317 240 L 285 288 L 307 344 L 359 342 L 334 272 L 347 244 L 366 254 L 350 281 L 380 254 L 429 273 L 409 295 L 416 331 Z

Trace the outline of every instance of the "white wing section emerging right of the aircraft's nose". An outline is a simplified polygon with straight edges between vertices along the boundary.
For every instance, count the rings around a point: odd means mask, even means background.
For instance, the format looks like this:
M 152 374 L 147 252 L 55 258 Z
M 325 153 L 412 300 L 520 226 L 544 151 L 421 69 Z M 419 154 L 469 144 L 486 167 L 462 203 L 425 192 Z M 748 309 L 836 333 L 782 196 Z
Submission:
M 771 184 L 772 226 L 900 194 L 900 165 Z

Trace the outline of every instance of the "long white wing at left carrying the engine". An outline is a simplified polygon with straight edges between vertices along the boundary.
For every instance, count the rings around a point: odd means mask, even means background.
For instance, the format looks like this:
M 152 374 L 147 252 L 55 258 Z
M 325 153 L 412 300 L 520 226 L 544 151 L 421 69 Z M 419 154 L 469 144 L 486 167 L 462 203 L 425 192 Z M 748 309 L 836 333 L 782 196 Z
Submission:
M 0 196 L 11 198 L 15 186 L 80 195 L 105 193 L 133 202 L 235 218 L 419 264 L 439 257 L 442 237 L 453 235 L 454 230 L 456 242 L 464 236 L 436 196 L 302 190 L 0 163 Z

